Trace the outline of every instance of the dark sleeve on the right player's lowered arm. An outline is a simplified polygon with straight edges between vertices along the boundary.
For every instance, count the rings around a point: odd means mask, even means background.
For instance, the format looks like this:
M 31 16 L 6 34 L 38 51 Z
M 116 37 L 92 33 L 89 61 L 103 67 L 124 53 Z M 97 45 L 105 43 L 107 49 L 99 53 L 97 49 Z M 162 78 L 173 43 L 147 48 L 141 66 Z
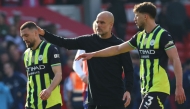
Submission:
M 160 46 L 165 50 L 175 47 L 172 36 L 168 32 L 163 32 L 160 38 Z

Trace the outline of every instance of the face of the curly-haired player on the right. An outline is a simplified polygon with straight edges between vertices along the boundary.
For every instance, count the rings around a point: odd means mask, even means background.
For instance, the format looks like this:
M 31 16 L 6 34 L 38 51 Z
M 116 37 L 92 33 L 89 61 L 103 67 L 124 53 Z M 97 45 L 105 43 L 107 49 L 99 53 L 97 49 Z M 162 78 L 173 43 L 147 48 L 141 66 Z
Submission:
M 142 13 L 135 13 L 134 17 L 135 24 L 139 29 L 144 29 L 145 26 L 145 14 Z

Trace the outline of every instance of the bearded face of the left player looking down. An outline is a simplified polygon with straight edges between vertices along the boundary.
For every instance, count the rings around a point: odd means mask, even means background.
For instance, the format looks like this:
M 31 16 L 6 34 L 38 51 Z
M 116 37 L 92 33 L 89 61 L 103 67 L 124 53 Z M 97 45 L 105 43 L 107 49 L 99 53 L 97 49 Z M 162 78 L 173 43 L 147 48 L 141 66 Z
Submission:
M 34 46 L 35 43 L 35 30 L 25 28 L 20 31 L 20 35 L 25 42 L 27 48 L 31 48 Z

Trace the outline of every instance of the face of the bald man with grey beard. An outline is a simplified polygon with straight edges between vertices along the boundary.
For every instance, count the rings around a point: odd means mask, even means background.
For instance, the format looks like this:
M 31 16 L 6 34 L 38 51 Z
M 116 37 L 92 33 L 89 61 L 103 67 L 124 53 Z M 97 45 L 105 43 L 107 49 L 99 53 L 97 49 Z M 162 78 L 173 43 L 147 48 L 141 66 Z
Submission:
M 112 23 L 107 16 L 99 15 L 95 21 L 95 30 L 98 35 L 105 35 L 112 29 Z

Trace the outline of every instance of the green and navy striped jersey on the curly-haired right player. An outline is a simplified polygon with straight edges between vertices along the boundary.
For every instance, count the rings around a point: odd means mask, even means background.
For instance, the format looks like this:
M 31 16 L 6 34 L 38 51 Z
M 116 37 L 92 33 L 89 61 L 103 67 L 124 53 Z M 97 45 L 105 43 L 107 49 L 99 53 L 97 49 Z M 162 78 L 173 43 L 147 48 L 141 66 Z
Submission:
M 128 43 L 139 51 L 141 93 L 169 94 L 166 50 L 175 47 L 171 35 L 158 25 L 150 33 L 138 32 Z

